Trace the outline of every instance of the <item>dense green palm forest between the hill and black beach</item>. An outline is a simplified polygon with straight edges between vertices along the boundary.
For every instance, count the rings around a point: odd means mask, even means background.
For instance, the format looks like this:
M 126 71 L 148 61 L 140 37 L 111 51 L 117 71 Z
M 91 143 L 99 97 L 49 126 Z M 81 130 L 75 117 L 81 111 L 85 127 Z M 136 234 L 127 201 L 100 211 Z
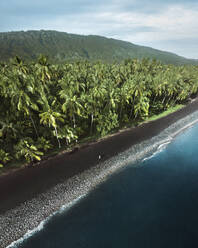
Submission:
M 155 60 L 0 64 L 0 167 L 137 125 L 198 92 L 196 66 Z

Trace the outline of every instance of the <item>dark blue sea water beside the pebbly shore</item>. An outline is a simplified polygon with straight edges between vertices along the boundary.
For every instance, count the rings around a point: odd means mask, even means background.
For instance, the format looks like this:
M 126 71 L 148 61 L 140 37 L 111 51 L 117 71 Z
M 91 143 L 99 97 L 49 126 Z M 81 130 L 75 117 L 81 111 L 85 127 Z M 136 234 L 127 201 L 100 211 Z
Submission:
M 198 247 L 198 125 L 128 166 L 23 248 Z

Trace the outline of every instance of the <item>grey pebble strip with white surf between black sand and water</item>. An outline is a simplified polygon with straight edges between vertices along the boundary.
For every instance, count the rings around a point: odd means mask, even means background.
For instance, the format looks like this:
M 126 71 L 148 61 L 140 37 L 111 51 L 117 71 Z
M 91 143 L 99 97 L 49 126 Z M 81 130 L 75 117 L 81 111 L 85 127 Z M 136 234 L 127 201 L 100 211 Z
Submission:
M 10 242 L 11 244 L 7 248 L 17 248 L 24 240 L 41 231 L 53 216 L 67 211 L 77 204 L 112 173 L 118 173 L 127 165 L 138 166 L 138 162 L 151 159 L 163 151 L 176 135 L 197 122 L 198 111 L 177 121 L 159 135 L 132 146 L 104 163 L 99 163 L 97 166 L 58 184 L 48 192 L 40 194 L 16 209 L 9 210 L 2 216 L 0 215 L 0 241 L 6 244 L 5 240 L 16 240 Z M 16 216 L 20 216 L 20 218 L 12 226 L 9 225 L 8 228 L 8 223 L 11 223 L 11 219 L 16 218 Z M 22 226 L 21 223 L 23 223 Z M 20 236 L 22 237 L 18 238 Z

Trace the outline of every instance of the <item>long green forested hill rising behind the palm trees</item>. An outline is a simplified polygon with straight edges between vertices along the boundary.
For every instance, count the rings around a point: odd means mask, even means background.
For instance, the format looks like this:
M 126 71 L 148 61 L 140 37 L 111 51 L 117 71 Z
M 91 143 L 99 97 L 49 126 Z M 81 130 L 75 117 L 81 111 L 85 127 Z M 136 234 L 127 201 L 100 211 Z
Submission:
M 147 57 L 171 64 L 198 64 L 197 60 L 189 60 L 173 53 L 101 36 L 44 30 L 0 33 L 1 61 L 7 61 L 15 55 L 32 60 L 41 53 L 54 62 L 79 59 L 113 62 Z

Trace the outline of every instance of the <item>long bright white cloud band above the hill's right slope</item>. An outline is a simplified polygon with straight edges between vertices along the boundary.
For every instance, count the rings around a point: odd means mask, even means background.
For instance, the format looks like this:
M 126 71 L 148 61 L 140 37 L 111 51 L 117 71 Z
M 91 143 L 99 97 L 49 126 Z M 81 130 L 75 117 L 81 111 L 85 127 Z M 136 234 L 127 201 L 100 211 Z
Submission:
M 168 40 L 173 37 L 174 39 L 195 37 L 198 31 L 197 16 L 197 10 L 171 6 L 160 14 L 101 12 L 58 16 L 51 21 L 41 22 L 41 26 L 56 27 L 66 32 L 78 31 L 84 34 L 112 33 L 112 36 L 119 37 L 121 34 L 120 38 L 133 37 L 131 41 Z M 142 27 L 151 31 L 144 32 Z M 128 30 L 130 33 L 123 34 L 123 30 Z

